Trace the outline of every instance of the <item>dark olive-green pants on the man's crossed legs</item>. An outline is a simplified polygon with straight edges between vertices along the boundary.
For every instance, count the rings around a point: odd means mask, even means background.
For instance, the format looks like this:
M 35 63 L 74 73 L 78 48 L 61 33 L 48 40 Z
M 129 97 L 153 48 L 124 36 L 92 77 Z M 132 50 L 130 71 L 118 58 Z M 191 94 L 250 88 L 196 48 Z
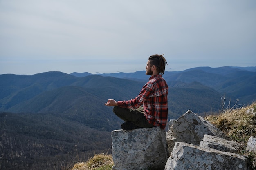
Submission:
M 136 126 L 139 126 L 141 128 L 155 127 L 153 124 L 150 124 L 146 116 L 144 116 L 144 111 L 142 107 L 136 110 L 135 109 L 129 110 L 127 108 L 121 108 L 121 107 L 115 106 L 113 108 L 113 112 L 122 120 L 126 122 L 132 122 Z

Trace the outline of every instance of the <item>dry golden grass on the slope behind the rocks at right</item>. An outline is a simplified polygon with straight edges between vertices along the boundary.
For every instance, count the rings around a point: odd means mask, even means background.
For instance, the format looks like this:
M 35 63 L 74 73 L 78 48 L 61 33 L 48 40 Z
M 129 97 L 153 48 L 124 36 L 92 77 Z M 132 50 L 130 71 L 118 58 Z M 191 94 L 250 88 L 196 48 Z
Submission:
M 247 145 L 249 137 L 256 135 L 256 103 L 239 109 L 228 109 L 206 119 L 222 130 L 231 140 Z

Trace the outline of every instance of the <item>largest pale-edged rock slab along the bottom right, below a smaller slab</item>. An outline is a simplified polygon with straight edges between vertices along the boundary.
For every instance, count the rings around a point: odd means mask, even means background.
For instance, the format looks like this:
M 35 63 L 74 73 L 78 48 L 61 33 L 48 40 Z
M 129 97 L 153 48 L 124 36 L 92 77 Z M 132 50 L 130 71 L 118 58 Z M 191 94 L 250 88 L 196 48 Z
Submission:
M 248 170 L 243 155 L 176 142 L 165 170 Z

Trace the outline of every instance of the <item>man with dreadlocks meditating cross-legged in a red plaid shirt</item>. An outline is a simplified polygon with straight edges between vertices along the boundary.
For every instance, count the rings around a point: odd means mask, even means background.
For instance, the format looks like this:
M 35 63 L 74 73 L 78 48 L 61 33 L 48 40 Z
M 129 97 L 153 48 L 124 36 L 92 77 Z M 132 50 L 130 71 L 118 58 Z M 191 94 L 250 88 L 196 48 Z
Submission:
M 152 128 L 160 126 L 164 129 L 167 124 L 168 85 L 162 78 L 167 64 L 163 55 L 151 55 L 146 65 L 146 75 L 149 81 L 143 86 L 137 97 L 128 101 L 108 99 L 106 106 L 115 106 L 113 112 L 125 121 L 121 125 L 124 130 L 136 128 Z M 138 110 L 140 106 L 143 110 Z M 136 110 L 137 109 L 137 110 Z

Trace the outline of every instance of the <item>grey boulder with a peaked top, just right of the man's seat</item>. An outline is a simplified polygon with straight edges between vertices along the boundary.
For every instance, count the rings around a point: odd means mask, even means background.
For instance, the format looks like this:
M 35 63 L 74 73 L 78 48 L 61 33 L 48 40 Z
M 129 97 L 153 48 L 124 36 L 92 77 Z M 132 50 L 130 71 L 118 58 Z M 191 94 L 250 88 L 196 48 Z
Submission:
M 176 138 L 179 142 L 195 145 L 200 144 L 205 134 L 227 139 L 227 136 L 218 128 L 191 110 L 188 110 L 184 115 L 179 117 L 167 133 L 171 133 L 172 137 Z

